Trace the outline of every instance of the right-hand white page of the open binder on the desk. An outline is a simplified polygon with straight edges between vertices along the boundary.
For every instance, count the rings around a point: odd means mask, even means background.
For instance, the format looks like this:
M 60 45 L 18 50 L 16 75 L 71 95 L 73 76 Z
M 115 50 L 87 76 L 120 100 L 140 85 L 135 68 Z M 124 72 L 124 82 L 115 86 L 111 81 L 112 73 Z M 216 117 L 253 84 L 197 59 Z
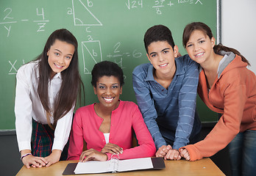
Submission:
M 118 172 L 151 168 L 153 168 L 151 158 L 120 160 L 118 163 Z

